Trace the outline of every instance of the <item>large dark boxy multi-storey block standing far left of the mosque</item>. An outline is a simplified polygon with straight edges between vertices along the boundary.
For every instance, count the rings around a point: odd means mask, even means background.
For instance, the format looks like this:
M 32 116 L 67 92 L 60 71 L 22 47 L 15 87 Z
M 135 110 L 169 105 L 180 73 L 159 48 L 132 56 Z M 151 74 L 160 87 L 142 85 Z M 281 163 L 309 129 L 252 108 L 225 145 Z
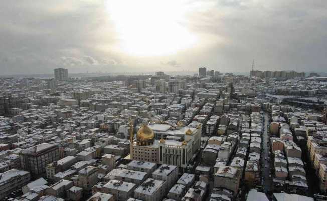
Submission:
M 42 176 L 46 172 L 46 166 L 59 159 L 59 147 L 56 144 L 42 143 L 20 153 L 22 169 L 30 171 L 35 177 Z

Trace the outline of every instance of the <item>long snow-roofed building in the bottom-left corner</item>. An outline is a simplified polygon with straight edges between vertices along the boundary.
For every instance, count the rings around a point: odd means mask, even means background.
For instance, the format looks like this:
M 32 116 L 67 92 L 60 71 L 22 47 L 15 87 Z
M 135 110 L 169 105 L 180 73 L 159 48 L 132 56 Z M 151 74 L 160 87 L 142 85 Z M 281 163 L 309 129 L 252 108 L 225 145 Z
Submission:
M 2 200 L 14 190 L 20 189 L 31 180 L 27 171 L 11 169 L 0 174 L 0 199 Z

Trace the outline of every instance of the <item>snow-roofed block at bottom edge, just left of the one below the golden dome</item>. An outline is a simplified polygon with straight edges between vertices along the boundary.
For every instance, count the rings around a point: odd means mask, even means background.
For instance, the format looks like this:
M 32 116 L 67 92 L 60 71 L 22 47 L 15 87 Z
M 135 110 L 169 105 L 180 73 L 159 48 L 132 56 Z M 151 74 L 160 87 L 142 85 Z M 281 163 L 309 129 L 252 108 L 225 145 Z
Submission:
M 112 194 L 116 201 L 125 201 L 133 195 L 136 184 L 118 180 L 110 180 L 102 186 L 102 192 Z

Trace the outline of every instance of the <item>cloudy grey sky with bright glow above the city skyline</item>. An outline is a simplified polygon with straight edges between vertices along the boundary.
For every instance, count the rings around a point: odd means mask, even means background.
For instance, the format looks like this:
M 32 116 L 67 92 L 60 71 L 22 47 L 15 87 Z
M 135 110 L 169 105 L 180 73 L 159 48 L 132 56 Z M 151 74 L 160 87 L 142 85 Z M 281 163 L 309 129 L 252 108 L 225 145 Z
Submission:
M 325 0 L 1 1 L 0 74 L 327 72 Z

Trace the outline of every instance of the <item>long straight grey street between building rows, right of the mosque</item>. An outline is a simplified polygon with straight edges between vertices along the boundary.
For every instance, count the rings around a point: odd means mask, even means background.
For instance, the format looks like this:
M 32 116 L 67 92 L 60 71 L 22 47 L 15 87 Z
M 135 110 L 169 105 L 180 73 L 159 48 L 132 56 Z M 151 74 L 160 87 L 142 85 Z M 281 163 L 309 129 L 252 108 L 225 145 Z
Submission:
M 270 175 L 270 160 L 269 158 L 269 145 L 267 144 L 269 142 L 269 135 L 268 135 L 268 125 L 269 125 L 269 117 L 267 113 L 263 113 L 263 135 L 262 135 L 262 148 L 263 152 L 262 158 L 261 158 L 261 179 L 263 179 L 261 182 L 263 184 L 264 192 L 270 192 L 272 190 L 272 177 Z

